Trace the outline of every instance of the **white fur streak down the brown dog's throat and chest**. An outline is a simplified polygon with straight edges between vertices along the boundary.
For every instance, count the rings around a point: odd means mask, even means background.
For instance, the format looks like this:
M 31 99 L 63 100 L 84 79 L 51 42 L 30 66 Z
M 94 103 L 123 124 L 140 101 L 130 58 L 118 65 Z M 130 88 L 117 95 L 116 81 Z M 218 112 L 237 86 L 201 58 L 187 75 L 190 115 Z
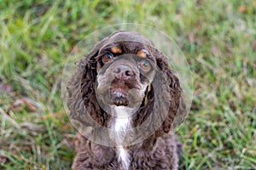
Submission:
M 125 106 L 113 106 L 112 108 L 114 120 L 111 123 L 111 129 L 114 133 L 110 133 L 110 137 L 117 145 L 118 159 L 125 169 L 129 169 L 130 156 L 128 150 L 125 150 L 123 143 L 125 142 L 125 131 L 131 127 L 132 109 Z

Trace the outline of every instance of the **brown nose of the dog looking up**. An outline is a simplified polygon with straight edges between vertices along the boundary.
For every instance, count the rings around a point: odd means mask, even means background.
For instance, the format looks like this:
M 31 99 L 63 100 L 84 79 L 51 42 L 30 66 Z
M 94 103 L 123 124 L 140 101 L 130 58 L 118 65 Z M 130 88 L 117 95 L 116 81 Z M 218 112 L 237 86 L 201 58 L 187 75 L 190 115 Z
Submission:
M 114 69 L 115 78 L 118 80 L 130 80 L 135 75 L 128 65 L 119 65 Z

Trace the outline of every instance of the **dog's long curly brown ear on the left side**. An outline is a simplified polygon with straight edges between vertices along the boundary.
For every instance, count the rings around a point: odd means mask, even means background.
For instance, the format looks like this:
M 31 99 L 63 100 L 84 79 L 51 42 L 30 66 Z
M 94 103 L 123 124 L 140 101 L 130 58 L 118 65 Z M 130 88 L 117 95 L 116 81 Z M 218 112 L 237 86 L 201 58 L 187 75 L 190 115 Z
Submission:
M 67 82 L 69 116 L 88 126 L 93 126 L 91 118 L 103 125 L 107 116 L 98 105 L 95 92 L 96 56 L 106 41 L 107 38 L 104 38 L 98 42 L 90 54 L 77 62 L 77 71 Z

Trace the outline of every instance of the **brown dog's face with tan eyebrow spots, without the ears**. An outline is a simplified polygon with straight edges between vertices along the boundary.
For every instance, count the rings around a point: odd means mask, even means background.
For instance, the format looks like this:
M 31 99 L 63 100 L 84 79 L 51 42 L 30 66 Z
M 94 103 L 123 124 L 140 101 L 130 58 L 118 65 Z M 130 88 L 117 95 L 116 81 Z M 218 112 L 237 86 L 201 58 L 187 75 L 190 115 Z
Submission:
M 154 79 L 156 61 L 140 42 L 114 42 L 97 57 L 96 94 L 104 105 L 141 105 Z

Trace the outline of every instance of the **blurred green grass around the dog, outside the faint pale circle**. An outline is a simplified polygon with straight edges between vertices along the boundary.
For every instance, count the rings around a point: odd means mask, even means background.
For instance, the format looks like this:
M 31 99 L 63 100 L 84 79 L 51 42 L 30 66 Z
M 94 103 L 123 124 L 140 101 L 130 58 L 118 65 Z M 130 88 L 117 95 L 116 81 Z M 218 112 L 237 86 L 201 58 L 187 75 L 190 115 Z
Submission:
M 255 14 L 253 0 L 0 1 L 0 169 L 70 169 L 61 71 L 82 38 L 123 22 L 165 31 L 189 62 L 181 168 L 255 169 Z

